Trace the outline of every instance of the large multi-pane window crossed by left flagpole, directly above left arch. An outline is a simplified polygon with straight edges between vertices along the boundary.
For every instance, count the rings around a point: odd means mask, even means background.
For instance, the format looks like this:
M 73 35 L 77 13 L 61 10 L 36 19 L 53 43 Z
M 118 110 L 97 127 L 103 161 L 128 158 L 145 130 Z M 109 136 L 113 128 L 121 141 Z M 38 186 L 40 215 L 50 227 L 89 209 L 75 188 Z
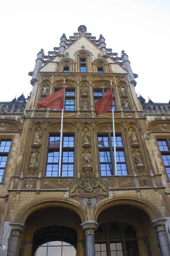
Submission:
M 58 176 L 59 173 L 59 145 L 60 135 L 50 136 L 49 151 L 46 166 L 46 176 Z M 51 149 L 55 149 L 52 150 Z M 62 176 L 74 176 L 74 136 L 63 135 L 62 143 Z

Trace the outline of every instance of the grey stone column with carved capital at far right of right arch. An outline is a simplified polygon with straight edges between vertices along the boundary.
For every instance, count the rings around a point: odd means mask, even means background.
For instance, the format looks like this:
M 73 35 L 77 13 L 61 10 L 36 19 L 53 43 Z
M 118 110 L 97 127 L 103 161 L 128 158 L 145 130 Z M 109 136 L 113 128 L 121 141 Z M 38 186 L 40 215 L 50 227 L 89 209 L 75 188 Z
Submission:
M 161 256 L 170 255 L 170 244 L 165 231 L 165 221 L 167 221 L 166 218 L 160 217 L 151 222 L 151 227 L 155 229 L 158 237 Z

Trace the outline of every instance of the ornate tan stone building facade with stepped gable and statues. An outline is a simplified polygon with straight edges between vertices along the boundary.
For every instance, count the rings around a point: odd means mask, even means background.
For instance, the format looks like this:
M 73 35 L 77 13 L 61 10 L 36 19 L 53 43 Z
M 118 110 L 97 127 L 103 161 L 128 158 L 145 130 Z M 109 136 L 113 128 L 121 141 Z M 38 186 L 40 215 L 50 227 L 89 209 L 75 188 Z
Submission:
M 27 102 L 0 102 L 0 255 L 170 255 L 170 104 L 138 98 L 125 51 L 85 26 L 41 49 L 29 75 Z M 61 111 L 37 101 L 63 79 L 60 142 Z M 112 113 L 94 110 L 111 80 L 117 175 Z

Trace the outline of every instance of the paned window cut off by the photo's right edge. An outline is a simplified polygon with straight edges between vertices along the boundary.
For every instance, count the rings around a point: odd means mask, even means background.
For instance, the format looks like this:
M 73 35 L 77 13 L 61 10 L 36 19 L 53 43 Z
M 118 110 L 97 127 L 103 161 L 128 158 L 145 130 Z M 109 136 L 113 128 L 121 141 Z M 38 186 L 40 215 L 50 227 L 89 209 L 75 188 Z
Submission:
M 170 179 L 170 140 L 169 138 L 165 140 L 157 140 L 159 150 L 161 151 L 162 159 L 164 162 L 167 175 Z

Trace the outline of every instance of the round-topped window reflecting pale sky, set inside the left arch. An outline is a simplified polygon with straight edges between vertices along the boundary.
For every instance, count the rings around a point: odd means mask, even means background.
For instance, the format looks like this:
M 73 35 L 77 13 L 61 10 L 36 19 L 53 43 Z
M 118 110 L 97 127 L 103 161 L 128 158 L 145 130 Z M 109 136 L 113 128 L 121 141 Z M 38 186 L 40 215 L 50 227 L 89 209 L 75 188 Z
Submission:
M 76 256 L 77 234 L 68 227 L 47 227 L 34 233 L 32 256 Z

